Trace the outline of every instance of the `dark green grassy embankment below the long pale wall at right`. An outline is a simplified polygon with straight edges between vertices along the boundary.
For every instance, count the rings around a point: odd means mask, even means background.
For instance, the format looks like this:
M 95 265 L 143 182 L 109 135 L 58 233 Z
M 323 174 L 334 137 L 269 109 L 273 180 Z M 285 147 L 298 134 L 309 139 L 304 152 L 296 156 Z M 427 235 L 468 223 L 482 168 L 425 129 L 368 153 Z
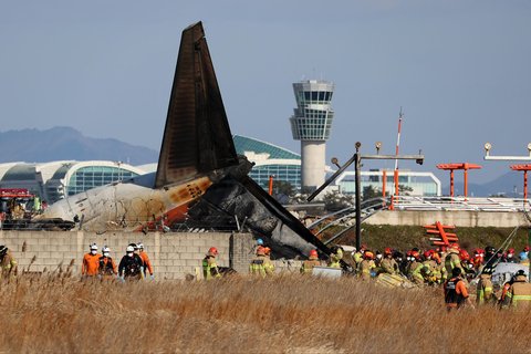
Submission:
M 454 231 L 459 238 L 461 247 L 468 250 L 485 248 L 486 246 L 500 247 L 513 228 L 461 228 Z M 520 228 L 510 247 L 520 252 L 528 244 L 529 231 Z M 348 231 L 339 240 L 341 244 L 356 244 L 354 230 Z M 389 226 L 362 225 L 362 243 L 371 250 L 381 250 L 391 247 L 398 250 L 409 250 L 418 247 L 423 250 L 434 248 L 426 230 L 419 226 Z

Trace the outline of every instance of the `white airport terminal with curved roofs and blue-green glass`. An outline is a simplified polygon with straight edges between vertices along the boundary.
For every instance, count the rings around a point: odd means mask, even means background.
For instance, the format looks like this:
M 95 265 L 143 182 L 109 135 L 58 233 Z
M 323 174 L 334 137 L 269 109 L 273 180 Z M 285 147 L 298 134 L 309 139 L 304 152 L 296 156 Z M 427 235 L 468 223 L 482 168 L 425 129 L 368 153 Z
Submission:
M 254 163 L 249 176 L 263 189 L 268 190 L 269 177 L 291 184 L 301 190 L 301 155 L 280 146 L 246 137 L 233 136 L 238 154 Z M 325 166 L 324 174 L 334 173 Z M 0 164 L 0 188 L 25 188 L 41 200 L 53 204 L 79 192 L 136 177 L 157 170 L 157 164 L 132 166 L 121 162 L 108 160 L 60 160 L 51 163 L 6 163 Z M 362 190 L 372 186 L 382 190 L 382 171 L 362 171 Z M 415 196 L 440 196 L 440 180 L 431 173 L 400 170 L 399 184 L 413 189 Z M 387 173 L 386 190 L 393 191 L 393 174 Z M 354 194 L 354 171 L 346 170 L 331 186 L 345 195 Z

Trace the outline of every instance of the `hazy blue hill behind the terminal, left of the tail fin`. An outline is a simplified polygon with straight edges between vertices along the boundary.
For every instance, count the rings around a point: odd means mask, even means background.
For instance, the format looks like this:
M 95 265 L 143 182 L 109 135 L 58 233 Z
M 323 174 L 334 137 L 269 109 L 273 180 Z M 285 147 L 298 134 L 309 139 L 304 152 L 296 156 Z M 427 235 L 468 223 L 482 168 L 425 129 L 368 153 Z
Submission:
M 0 132 L 0 163 L 48 163 L 62 159 L 156 163 L 158 153 L 112 138 L 92 138 L 71 127 Z

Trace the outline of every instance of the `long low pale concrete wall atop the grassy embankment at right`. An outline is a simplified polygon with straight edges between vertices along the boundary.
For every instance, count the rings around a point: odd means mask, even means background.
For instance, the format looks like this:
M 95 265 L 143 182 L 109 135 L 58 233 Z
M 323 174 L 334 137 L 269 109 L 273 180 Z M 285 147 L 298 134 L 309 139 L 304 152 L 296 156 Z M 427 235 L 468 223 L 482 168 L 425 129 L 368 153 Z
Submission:
M 528 225 L 522 212 L 504 211 L 413 211 L 413 210 L 383 210 L 367 220 L 371 225 L 412 225 L 424 226 L 440 221 L 445 225 L 458 227 L 497 227 L 513 228 Z

